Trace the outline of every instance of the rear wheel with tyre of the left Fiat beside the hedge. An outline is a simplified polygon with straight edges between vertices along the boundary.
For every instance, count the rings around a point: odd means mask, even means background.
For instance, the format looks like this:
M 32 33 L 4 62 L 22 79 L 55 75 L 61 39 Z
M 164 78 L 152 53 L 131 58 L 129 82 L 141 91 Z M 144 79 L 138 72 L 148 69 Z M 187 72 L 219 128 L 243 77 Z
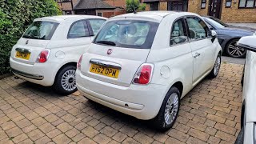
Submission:
M 58 94 L 73 94 L 77 91 L 75 80 L 76 66 L 65 66 L 58 71 L 54 81 L 54 90 Z

